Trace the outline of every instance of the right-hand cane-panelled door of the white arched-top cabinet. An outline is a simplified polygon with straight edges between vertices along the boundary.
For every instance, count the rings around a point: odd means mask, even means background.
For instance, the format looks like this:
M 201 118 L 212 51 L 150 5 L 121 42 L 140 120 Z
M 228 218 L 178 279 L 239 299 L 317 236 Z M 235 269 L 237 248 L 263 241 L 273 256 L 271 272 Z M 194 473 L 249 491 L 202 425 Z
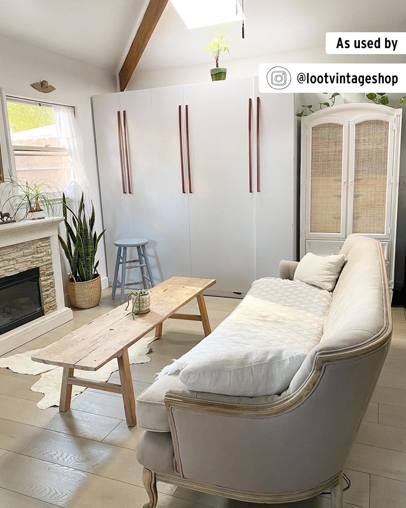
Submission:
M 348 234 L 389 235 L 394 117 L 362 115 L 351 121 Z

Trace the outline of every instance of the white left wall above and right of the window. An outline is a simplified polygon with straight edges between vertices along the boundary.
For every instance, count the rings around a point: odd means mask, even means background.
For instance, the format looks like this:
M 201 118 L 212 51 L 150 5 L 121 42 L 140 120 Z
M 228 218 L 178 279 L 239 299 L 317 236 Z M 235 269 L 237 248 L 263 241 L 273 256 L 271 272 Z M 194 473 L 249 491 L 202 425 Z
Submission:
M 46 79 L 56 90 L 44 94 L 30 84 Z M 117 91 L 112 71 L 101 69 L 52 51 L 0 36 L 0 87 L 5 92 L 41 101 L 55 101 L 77 108 L 84 141 L 85 168 L 96 210 L 96 229 L 102 229 L 96 153 L 91 113 L 91 96 Z M 99 244 L 99 273 L 105 278 L 104 244 Z

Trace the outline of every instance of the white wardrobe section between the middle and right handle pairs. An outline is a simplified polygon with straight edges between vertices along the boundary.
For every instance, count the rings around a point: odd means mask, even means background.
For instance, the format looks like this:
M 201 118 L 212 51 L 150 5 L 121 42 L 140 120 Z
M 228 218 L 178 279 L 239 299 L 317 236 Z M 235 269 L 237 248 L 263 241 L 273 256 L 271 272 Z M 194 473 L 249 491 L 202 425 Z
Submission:
M 250 98 L 251 78 L 184 86 L 192 275 L 216 278 L 217 293 L 246 293 L 255 278 Z

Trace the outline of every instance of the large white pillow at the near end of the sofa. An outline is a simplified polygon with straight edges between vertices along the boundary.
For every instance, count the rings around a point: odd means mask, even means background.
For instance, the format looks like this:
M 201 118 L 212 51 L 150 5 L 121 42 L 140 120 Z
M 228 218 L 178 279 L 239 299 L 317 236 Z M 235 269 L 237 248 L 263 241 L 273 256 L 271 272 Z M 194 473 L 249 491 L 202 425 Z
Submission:
M 285 391 L 306 353 L 263 347 L 210 354 L 181 370 L 188 390 L 236 397 L 261 397 Z

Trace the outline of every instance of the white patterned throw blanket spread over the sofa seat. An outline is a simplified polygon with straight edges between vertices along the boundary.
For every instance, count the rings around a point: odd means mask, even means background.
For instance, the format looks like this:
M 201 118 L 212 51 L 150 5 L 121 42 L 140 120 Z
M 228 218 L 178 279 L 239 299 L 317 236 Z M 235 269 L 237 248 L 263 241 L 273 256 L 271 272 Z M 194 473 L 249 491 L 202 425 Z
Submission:
M 206 338 L 158 377 L 184 369 L 192 360 L 253 347 L 281 347 L 309 353 L 323 335 L 331 293 L 299 280 L 262 278 L 238 307 Z

